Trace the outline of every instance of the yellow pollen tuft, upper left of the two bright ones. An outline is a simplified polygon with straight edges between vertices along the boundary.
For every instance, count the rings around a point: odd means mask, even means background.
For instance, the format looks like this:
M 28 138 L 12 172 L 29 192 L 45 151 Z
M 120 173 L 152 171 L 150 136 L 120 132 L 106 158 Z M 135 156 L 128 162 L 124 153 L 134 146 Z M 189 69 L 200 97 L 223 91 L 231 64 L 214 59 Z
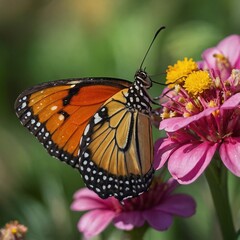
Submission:
M 186 77 L 197 70 L 197 63 L 192 58 L 184 58 L 182 61 L 178 60 L 173 66 L 168 66 L 166 70 L 166 84 L 168 84 L 169 88 L 174 87 L 176 84 L 182 85 Z

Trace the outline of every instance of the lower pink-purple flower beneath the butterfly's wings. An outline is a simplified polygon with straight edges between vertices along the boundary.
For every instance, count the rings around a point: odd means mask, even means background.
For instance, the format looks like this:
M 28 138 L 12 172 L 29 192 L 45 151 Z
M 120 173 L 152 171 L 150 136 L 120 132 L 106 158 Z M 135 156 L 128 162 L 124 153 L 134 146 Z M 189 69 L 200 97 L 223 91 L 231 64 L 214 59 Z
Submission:
M 101 233 L 111 222 L 115 227 L 131 230 L 148 222 L 154 229 L 163 231 L 170 227 L 173 216 L 190 217 L 195 213 L 196 204 L 186 194 L 174 194 L 177 182 L 166 183 L 154 180 L 148 192 L 126 199 L 121 204 L 114 197 L 101 199 L 87 188 L 74 195 L 71 209 L 88 211 L 79 223 L 78 229 L 86 238 Z

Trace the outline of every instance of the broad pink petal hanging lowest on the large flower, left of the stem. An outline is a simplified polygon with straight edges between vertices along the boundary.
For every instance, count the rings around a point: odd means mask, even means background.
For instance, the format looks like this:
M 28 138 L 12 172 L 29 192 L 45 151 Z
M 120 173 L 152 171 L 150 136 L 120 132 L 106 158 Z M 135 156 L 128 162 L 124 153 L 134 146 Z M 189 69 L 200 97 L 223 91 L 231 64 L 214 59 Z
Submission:
M 181 184 L 189 184 L 198 178 L 210 163 L 217 144 L 195 142 L 181 146 L 169 158 L 168 170 Z

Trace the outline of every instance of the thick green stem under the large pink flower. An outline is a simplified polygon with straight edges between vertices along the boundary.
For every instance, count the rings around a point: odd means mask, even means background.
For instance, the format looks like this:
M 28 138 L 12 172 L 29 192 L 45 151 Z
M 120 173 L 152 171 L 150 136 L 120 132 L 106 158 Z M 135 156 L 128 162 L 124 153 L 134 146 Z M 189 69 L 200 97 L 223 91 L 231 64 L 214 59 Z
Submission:
M 219 159 L 213 159 L 205 171 L 224 240 L 236 239 L 232 212 L 229 204 L 227 168 Z

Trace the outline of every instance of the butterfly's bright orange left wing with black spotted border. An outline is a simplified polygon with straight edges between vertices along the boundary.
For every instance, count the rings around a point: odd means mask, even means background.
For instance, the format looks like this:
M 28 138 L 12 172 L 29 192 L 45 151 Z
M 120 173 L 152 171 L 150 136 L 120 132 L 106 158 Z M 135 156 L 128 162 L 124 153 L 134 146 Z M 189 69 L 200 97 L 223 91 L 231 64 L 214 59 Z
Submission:
M 24 91 L 15 110 L 50 155 L 77 167 L 80 139 L 89 119 L 107 99 L 130 84 L 112 78 L 43 83 Z

